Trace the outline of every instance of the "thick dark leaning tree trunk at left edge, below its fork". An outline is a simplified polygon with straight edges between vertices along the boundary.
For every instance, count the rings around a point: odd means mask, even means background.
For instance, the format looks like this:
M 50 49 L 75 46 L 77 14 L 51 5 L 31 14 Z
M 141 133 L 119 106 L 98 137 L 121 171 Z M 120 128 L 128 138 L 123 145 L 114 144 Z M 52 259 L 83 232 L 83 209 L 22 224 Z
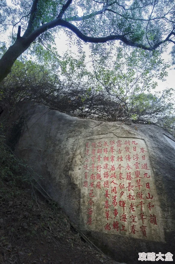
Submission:
M 9 74 L 15 60 L 25 51 L 30 45 L 24 44 L 22 38 L 8 48 L 6 53 L 0 59 L 0 82 Z

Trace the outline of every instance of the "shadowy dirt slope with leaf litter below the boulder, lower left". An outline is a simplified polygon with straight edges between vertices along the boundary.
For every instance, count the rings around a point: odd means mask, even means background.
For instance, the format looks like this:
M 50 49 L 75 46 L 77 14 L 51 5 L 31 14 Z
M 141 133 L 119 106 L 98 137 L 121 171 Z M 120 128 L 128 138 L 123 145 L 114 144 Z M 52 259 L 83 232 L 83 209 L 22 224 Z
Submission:
M 56 204 L 11 177 L 0 183 L 0 263 L 119 263 L 85 243 Z

